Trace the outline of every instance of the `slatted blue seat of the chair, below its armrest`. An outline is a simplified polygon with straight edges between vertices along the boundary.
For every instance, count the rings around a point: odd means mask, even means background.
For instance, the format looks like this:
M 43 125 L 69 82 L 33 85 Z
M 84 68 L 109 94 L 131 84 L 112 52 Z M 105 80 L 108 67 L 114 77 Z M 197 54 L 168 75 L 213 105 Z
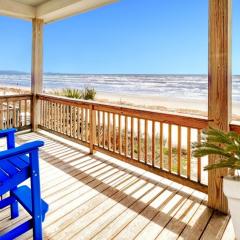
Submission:
M 30 177 L 29 158 L 25 155 L 0 160 L 0 195 Z

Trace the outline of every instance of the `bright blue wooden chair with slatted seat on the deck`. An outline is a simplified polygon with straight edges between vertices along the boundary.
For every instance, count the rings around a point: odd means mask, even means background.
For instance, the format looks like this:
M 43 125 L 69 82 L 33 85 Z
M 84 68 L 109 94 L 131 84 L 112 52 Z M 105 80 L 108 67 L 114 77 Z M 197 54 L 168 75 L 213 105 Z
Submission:
M 0 138 L 6 137 L 8 148 L 0 152 L 0 196 L 10 193 L 7 198 L 0 201 L 0 209 L 10 205 L 11 219 L 14 219 L 19 216 L 18 203 L 20 203 L 32 218 L 0 235 L 0 240 L 14 239 L 30 229 L 33 229 L 34 239 L 40 240 L 42 222 L 48 211 L 48 204 L 41 199 L 39 177 L 38 150 L 44 143 L 34 141 L 15 147 L 15 132 L 15 129 L 0 131 Z M 27 179 L 30 179 L 31 188 L 19 186 Z

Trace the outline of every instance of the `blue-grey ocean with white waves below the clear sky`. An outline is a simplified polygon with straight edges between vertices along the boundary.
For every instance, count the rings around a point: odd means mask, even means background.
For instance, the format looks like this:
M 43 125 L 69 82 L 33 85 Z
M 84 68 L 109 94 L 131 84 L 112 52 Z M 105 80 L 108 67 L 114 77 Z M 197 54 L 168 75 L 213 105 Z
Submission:
M 30 87 L 30 74 L 0 74 L 0 85 Z M 94 87 L 97 92 L 207 99 L 207 75 L 45 74 L 44 90 Z M 233 101 L 240 102 L 240 76 L 233 76 Z

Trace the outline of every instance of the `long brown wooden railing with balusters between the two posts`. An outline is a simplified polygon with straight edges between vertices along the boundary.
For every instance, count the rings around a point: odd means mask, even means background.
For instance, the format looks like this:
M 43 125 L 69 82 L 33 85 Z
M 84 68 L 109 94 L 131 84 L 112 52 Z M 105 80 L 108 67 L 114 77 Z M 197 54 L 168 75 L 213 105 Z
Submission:
M 39 128 L 207 193 L 208 158 L 194 158 L 207 119 L 38 95 Z

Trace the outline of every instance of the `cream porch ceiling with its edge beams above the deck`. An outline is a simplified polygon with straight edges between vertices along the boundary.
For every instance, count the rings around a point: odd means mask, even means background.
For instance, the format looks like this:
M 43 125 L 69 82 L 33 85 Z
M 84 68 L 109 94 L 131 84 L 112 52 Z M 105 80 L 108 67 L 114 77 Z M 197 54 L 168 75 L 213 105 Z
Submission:
M 45 23 L 87 12 L 117 0 L 0 0 L 0 15 Z

